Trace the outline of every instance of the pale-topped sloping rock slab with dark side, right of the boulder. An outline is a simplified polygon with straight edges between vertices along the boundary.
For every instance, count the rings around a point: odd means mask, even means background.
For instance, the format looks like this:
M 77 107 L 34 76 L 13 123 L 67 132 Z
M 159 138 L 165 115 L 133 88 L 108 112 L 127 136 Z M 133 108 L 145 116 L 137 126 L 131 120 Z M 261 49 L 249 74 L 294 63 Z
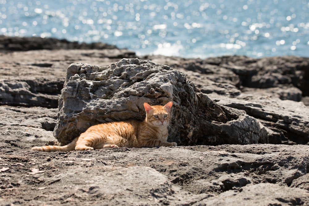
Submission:
M 260 98 L 228 98 L 210 94 L 218 104 L 246 111 L 267 129 L 269 143 L 309 144 L 309 109 L 302 102 Z

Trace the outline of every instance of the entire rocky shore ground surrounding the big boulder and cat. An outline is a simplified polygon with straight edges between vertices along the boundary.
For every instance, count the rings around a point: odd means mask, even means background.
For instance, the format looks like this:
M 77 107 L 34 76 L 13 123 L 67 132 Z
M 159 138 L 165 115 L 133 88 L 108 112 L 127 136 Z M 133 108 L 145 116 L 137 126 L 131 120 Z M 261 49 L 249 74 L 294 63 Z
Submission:
M 122 58 L 136 55 L 104 44 L 0 36 L 0 205 L 309 205 L 303 57 L 138 57 L 184 72 L 222 108 L 245 112 L 270 144 L 31 151 L 57 144 L 69 65 Z

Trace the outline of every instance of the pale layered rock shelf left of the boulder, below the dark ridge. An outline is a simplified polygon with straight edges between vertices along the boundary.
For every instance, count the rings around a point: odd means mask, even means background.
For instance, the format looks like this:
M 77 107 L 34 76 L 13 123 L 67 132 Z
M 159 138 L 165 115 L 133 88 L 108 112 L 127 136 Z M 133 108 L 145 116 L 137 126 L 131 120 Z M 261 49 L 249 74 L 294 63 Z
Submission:
M 68 65 L 78 61 L 111 64 L 131 56 L 132 52 L 116 48 L 0 53 L 0 104 L 57 108 Z

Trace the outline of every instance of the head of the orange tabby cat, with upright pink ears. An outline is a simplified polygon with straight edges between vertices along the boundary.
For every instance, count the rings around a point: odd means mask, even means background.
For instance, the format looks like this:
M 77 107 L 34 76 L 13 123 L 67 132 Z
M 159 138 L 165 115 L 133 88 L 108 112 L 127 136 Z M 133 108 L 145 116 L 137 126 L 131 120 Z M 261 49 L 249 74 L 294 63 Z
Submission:
M 164 106 L 150 106 L 149 104 L 144 103 L 147 123 L 155 127 L 166 126 L 170 120 L 170 111 L 172 105 L 173 102 L 168 102 Z

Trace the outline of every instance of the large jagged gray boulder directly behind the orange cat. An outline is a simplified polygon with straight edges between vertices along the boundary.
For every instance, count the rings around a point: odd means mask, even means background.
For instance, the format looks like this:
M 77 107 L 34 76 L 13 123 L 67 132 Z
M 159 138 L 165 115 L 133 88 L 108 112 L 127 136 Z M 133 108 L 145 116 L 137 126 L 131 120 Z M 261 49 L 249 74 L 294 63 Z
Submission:
M 244 111 L 215 103 L 178 70 L 137 58 L 102 67 L 71 64 L 54 136 L 67 144 L 93 124 L 142 120 L 144 102 L 168 101 L 174 103 L 169 141 L 179 145 L 268 142 L 265 128 Z

